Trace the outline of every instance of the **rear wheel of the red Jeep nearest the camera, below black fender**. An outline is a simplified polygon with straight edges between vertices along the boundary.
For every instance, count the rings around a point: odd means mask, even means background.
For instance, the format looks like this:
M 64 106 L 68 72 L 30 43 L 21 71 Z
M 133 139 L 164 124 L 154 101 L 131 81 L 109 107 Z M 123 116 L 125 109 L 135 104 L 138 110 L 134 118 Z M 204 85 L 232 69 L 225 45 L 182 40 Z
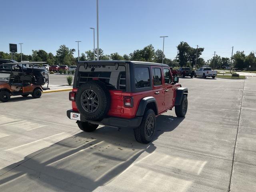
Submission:
M 134 128 L 136 141 L 147 144 L 154 138 L 156 132 L 156 114 L 152 109 L 146 109 L 139 127 Z

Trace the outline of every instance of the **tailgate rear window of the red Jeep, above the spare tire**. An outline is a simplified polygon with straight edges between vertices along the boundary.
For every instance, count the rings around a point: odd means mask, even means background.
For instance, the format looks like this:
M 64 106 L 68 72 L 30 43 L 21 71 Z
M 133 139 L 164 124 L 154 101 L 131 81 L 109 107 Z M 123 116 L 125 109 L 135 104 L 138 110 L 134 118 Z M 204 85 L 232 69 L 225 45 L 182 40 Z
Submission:
M 89 65 L 87 69 L 84 66 L 79 67 L 77 86 L 91 80 L 100 80 L 104 82 L 109 90 L 126 90 L 126 69 L 125 66 L 110 65 Z

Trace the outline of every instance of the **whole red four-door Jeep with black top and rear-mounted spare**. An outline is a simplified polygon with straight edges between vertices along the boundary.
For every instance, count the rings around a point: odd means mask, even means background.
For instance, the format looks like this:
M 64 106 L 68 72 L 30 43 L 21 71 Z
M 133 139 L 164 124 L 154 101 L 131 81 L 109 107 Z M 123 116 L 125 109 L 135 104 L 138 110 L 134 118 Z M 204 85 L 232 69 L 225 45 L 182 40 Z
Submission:
M 82 61 L 69 93 L 72 110 L 67 116 L 86 132 L 98 125 L 130 127 L 138 142 L 148 143 L 154 138 L 157 116 L 174 106 L 178 117 L 186 115 L 187 94 L 166 64 Z

